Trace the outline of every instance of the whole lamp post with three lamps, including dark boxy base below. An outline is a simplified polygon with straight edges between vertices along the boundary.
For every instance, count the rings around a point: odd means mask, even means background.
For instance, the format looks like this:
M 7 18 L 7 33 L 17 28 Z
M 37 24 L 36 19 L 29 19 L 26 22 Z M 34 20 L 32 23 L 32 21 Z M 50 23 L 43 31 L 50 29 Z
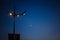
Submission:
M 14 11 L 10 11 L 8 14 L 9 16 L 13 16 L 13 20 L 14 20 L 13 21 L 13 33 L 8 34 L 8 40 L 20 40 L 20 34 L 15 33 L 15 28 L 16 28 L 15 19 L 16 19 L 16 17 L 24 16 L 26 11 L 23 11 L 20 14 L 16 14 L 15 10 L 16 10 L 16 7 L 15 7 L 15 3 L 14 3 Z

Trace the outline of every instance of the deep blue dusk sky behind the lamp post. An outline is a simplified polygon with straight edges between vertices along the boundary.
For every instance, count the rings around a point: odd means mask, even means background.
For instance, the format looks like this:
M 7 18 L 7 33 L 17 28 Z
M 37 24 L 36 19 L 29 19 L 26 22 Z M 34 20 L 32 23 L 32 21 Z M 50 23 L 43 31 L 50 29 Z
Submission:
M 16 13 L 27 10 L 25 16 L 16 18 L 16 33 L 21 40 L 58 40 L 60 38 L 59 0 L 15 0 Z M 8 40 L 13 33 L 12 0 L 0 0 L 0 40 Z

